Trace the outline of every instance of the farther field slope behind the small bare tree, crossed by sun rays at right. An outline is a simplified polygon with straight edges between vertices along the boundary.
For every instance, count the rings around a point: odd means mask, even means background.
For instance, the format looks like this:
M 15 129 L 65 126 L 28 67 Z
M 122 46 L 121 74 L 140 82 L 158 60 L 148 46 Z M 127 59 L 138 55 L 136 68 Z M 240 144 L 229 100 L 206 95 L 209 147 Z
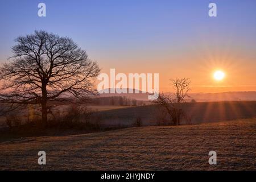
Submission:
M 156 105 L 127 107 L 97 112 L 103 125 L 133 125 L 141 117 L 145 126 L 156 125 Z M 256 117 L 256 101 L 196 102 L 182 104 L 184 111 L 192 117 L 192 123 L 230 121 Z M 184 123 L 184 119 L 183 119 Z

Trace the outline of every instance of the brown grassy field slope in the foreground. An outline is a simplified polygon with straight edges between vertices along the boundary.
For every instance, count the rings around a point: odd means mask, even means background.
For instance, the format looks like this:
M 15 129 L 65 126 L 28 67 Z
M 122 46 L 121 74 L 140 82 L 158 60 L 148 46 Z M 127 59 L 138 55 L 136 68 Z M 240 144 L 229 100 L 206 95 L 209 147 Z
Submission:
M 41 150 L 46 166 L 38 165 Z M 256 119 L 21 138 L 0 143 L 0 169 L 256 170 Z

